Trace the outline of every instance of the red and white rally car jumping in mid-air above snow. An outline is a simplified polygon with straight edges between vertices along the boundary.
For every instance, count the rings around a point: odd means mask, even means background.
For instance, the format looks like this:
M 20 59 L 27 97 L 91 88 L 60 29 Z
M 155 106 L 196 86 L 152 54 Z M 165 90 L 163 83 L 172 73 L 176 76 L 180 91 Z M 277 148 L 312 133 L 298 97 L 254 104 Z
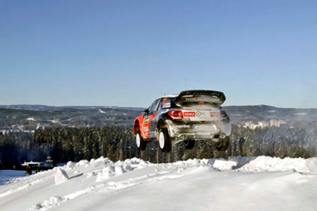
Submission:
M 147 143 L 158 140 L 161 150 L 170 152 L 179 142 L 192 149 L 196 140 L 207 140 L 218 151 L 225 151 L 231 122 L 220 106 L 224 101 L 222 92 L 212 90 L 187 90 L 158 98 L 134 120 L 135 143 L 145 150 Z

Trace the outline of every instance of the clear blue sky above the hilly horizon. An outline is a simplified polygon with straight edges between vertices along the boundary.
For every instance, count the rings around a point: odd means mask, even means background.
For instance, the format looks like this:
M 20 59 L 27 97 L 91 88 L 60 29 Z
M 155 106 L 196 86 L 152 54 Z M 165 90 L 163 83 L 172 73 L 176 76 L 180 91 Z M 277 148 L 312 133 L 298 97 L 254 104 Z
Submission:
M 0 0 L 0 104 L 317 108 L 317 1 Z

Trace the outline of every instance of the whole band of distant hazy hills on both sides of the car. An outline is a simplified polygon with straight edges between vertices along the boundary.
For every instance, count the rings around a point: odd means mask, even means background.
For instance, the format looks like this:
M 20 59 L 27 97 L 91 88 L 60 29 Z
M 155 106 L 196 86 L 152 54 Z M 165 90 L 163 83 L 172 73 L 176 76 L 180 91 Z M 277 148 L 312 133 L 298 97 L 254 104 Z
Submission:
M 145 108 L 116 106 L 1 105 L 0 130 L 34 130 L 39 127 L 132 126 Z M 267 105 L 224 106 L 235 124 L 271 119 L 317 121 L 317 109 L 277 108 Z

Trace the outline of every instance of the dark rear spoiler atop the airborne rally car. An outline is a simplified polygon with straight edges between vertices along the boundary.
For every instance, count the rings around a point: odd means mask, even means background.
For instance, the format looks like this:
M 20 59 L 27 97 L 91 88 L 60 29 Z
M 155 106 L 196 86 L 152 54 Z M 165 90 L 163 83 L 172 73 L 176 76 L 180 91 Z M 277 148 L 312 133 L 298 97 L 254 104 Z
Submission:
M 179 93 L 174 103 L 204 101 L 221 105 L 225 101 L 224 93 L 213 90 L 186 90 Z

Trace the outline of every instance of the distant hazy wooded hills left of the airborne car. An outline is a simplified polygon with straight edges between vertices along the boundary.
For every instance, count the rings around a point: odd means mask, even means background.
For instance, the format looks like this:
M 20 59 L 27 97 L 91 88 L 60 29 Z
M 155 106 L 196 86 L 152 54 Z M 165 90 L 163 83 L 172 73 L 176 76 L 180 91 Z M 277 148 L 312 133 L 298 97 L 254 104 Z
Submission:
M 48 109 L 37 107 L 37 109 Z M 28 108 L 32 108 L 31 106 Z M 0 130 L 35 130 L 39 127 L 132 126 L 138 109 L 54 107 L 50 110 L 0 108 Z

